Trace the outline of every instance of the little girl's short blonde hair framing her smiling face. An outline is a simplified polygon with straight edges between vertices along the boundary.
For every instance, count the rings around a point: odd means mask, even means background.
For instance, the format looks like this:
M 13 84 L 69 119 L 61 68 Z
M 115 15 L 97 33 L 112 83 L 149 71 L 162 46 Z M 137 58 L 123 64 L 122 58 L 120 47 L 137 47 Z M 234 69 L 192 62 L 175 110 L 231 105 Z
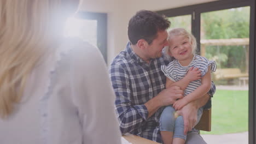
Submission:
M 196 54 L 196 39 L 193 34 L 189 33 L 184 28 L 173 28 L 170 31 L 168 31 L 168 38 L 169 41 L 173 37 L 177 37 L 179 35 L 182 35 L 184 37 L 187 37 L 189 39 L 189 43 L 191 44 L 192 52 L 195 55 Z

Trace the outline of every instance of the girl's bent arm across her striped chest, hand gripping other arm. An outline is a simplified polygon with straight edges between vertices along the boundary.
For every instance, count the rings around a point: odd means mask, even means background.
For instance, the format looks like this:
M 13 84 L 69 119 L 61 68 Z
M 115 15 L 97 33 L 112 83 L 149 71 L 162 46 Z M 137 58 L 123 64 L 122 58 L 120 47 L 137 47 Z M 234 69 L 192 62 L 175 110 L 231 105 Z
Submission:
M 183 91 L 185 90 L 185 88 L 188 87 L 189 83 L 191 81 L 195 81 L 195 80 L 199 80 L 201 79 L 201 71 L 199 70 L 199 68 L 194 68 L 191 67 L 188 70 L 188 73 L 186 76 L 183 77 L 183 79 L 174 82 L 172 80 L 170 80 L 168 77 L 166 77 L 166 88 L 168 87 L 172 87 L 172 86 L 178 86 L 180 87 Z

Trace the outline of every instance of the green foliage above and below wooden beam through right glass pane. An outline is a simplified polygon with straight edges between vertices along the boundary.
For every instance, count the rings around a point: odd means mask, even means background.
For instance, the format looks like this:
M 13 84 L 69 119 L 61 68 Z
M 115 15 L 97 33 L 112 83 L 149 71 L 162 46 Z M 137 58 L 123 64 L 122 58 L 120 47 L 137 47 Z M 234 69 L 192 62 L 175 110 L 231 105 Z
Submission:
M 201 39 L 249 38 L 249 7 L 201 14 Z M 245 46 L 206 46 L 206 57 L 218 68 L 246 69 Z

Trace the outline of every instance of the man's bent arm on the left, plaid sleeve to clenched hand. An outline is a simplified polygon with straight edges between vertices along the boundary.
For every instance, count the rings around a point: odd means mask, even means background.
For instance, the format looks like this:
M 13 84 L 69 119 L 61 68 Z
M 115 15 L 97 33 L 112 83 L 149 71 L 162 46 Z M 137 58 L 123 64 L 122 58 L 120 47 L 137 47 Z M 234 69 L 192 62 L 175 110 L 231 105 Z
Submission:
M 142 105 L 132 105 L 129 76 L 118 64 L 110 65 L 110 79 L 116 95 L 115 110 L 117 112 L 122 134 L 141 127 L 147 118 L 151 117 L 160 107 L 173 104 L 176 99 L 183 97 L 179 87 L 164 89 L 156 97 Z

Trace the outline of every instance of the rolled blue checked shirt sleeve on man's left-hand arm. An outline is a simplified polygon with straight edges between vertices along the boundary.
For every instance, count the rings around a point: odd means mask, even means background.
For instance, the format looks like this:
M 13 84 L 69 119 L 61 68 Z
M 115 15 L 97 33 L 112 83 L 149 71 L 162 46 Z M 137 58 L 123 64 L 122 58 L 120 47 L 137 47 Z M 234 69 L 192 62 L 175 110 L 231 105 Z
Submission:
M 122 134 L 141 127 L 148 117 L 145 105 L 132 105 L 132 92 L 130 89 L 129 76 L 118 64 L 110 65 L 110 79 L 116 95 L 115 111 L 118 116 Z

